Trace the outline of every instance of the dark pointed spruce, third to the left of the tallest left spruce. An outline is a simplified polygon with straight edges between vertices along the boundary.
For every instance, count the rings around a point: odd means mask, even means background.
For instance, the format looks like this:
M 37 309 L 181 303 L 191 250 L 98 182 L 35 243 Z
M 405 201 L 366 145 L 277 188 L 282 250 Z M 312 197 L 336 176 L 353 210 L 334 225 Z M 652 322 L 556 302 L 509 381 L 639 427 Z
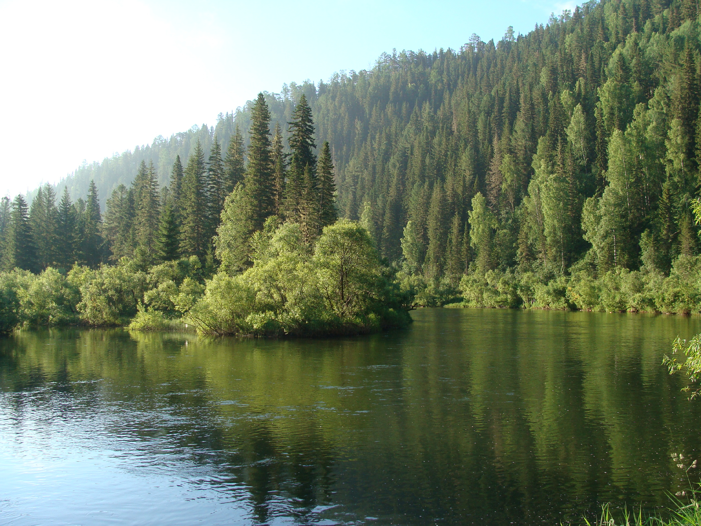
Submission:
M 207 220 L 210 206 L 205 189 L 205 154 L 198 141 L 187 160 L 182 181 L 180 213 L 180 248 L 184 256 L 197 256 L 203 261 L 210 246 L 207 238 Z

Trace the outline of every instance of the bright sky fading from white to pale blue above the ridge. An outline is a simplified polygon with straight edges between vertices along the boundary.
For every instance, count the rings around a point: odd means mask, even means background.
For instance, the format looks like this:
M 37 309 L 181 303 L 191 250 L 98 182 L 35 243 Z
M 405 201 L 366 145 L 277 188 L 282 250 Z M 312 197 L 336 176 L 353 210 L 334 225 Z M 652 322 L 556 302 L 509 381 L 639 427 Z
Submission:
M 526 34 L 573 1 L 0 0 L 0 194 L 383 52 Z

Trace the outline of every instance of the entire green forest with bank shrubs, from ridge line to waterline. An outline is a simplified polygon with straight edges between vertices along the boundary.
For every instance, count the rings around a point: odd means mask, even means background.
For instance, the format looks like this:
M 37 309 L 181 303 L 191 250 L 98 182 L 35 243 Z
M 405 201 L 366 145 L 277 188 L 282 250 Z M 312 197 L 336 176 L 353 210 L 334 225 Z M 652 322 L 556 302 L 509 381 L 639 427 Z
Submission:
M 343 296 L 343 271 L 313 293 L 303 277 L 345 269 L 348 249 L 362 259 L 349 286 L 372 301 L 344 296 L 341 325 L 412 306 L 700 311 L 699 15 L 693 0 L 590 1 L 526 35 L 290 83 L 83 164 L 2 200 L 0 308 L 22 305 L 12 326 L 189 316 L 205 332 L 314 333 L 290 305 Z M 313 268 L 274 278 L 292 259 Z M 232 297 L 249 306 L 226 328 L 217 302 Z

